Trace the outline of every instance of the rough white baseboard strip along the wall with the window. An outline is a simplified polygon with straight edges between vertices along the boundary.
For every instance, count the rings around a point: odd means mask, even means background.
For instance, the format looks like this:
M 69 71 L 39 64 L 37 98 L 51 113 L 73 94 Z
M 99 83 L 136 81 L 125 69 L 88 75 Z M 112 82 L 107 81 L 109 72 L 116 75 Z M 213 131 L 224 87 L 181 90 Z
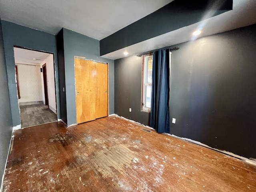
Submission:
M 136 121 L 134 121 L 134 120 L 127 119 L 127 118 L 122 117 L 122 116 L 118 116 L 117 114 L 112 114 L 112 116 L 116 116 L 116 117 L 122 118 L 122 119 L 124 119 L 124 120 L 130 121 L 130 122 L 134 122 L 134 123 L 136 123 L 136 124 L 140 124 L 140 125 L 142 125 L 142 126 L 144 126 L 144 127 L 150 128 L 151 130 L 155 130 L 155 129 L 152 128 L 152 127 L 145 126 L 144 124 L 141 124 L 141 123 L 136 122 Z M 236 155 L 236 154 L 234 154 L 234 153 L 232 153 L 232 152 L 228 152 L 228 151 L 225 151 L 225 150 L 219 150 L 219 149 L 216 149 L 216 148 L 212 148 L 212 147 L 210 147 L 210 146 L 208 146 L 208 145 L 206 145 L 206 144 L 203 144 L 203 143 L 201 143 L 201 142 L 198 142 L 198 141 L 195 141 L 195 140 L 192 140 L 192 139 L 188 139 L 188 138 L 184 138 L 184 137 L 179 137 L 179 136 L 176 136 L 176 135 L 174 135 L 174 134 L 169 134 L 169 133 L 164 133 L 164 134 L 166 134 L 166 135 L 168 135 L 168 136 L 172 136 L 172 137 L 178 138 L 178 139 L 181 139 L 181 140 L 184 140 L 184 141 L 187 141 L 187 142 L 190 142 L 190 143 L 193 143 L 193 144 L 196 144 L 196 145 L 199 145 L 199 146 L 202 146 L 202 147 L 205 147 L 205 148 L 208 148 L 208 149 L 211 149 L 211 150 L 214 150 L 214 151 L 217 151 L 217 152 L 220 152 L 220 153 L 222 153 L 222 154 L 226 154 L 226 155 L 228 155 L 228 156 L 237 158 L 237 159 L 239 159 L 239 160 L 245 161 L 245 162 L 248 163 L 248 164 L 252 164 L 252 165 L 256 166 L 256 159 L 254 159 L 254 158 L 248 159 L 248 158 L 246 158 L 246 157 L 242 157 L 242 156 Z

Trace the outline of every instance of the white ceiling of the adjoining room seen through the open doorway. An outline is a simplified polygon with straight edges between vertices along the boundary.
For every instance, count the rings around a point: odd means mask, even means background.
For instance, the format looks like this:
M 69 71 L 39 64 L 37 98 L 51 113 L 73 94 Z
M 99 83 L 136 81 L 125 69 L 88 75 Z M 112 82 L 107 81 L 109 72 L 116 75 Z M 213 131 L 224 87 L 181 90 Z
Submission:
M 33 51 L 33 50 L 14 47 L 15 63 L 40 64 L 49 55 L 50 55 L 49 53 L 44 53 L 44 52 L 39 52 L 39 51 Z M 37 59 L 37 60 L 33 60 L 33 59 Z

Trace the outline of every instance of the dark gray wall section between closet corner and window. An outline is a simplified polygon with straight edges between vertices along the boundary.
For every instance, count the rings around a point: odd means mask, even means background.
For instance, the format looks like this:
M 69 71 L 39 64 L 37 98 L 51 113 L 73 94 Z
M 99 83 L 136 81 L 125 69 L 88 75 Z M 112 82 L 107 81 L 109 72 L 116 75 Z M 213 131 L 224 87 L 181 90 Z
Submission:
M 141 86 L 142 57 L 115 60 L 115 114 L 149 125 L 150 113 L 140 110 Z

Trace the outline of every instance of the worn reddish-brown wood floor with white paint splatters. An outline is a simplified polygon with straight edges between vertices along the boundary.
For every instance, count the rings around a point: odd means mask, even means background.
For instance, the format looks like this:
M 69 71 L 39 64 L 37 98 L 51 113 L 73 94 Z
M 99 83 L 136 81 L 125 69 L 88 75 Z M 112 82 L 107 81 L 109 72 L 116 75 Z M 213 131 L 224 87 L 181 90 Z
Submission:
M 4 191 L 256 191 L 256 166 L 143 128 L 111 116 L 17 130 Z

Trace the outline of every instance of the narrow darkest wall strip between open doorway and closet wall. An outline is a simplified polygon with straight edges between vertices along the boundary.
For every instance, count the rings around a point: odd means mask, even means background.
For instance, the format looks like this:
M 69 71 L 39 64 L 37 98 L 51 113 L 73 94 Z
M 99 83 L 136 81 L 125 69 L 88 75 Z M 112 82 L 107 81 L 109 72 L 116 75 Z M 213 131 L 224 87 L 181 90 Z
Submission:
M 64 60 L 64 40 L 63 29 L 60 30 L 57 39 L 58 50 L 58 66 L 59 66 L 59 84 L 60 84 L 60 112 L 61 119 L 65 124 L 68 124 L 67 120 L 67 105 L 66 105 L 66 83 L 65 83 L 65 60 Z

